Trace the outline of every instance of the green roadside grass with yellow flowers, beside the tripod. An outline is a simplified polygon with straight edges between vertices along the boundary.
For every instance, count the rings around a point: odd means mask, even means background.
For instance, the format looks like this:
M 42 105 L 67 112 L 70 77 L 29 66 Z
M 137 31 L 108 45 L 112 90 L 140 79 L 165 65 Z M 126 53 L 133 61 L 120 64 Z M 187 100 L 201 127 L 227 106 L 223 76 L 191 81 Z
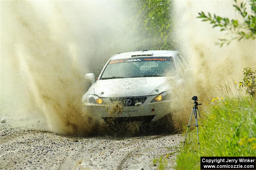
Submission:
M 183 151 L 181 145 L 175 169 L 200 169 L 201 156 L 255 156 L 256 100 L 215 98 L 208 107 L 209 113 L 199 121 L 203 125 L 199 126 L 200 148 L 194 128 L 188 133 Z

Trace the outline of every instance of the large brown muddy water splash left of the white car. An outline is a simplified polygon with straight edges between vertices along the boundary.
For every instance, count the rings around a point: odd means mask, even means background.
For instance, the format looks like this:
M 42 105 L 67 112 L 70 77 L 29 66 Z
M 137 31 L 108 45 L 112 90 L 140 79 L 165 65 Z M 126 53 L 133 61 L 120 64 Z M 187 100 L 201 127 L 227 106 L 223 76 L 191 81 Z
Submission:
M 36 110 L 53 132 L 88 133 L 83 76 L 131 43 L 129 17 L 122 2 L 1 2 L 2 112 Z

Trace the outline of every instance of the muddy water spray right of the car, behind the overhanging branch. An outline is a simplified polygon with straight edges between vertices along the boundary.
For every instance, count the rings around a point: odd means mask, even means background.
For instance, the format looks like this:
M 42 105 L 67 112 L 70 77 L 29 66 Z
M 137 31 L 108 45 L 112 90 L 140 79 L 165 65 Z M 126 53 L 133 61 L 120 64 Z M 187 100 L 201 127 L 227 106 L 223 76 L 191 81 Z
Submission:
M 179 89 L 179 103 L 182 106 L 180 113 L 174 115 L 174 122 L 180 126 L 189 120 L 193 107 L 189 99 L 192 96 L 198 96 L 199 102 L 203 104 L 215 97 L 223 97 L 218 96 L 217 88 L 223 88 L 227 81 L 231 82 L 230 86 L 233 86 L 233 82 L 241 81 L 244 67 L 256 69 L 256 46 L 255 40 L 241 40 L 220 48 L 214 42 L 231 35 L 196 18 L 199 12 L 204 11 L 242 21 L 232 6 L 233 1 L 175 1 L 174 5 L 176 19 L 179 21 L 176 36 L 181 39 L 182 52 L 195 69 L 194 77 L 186 85 L 186 91 Z

